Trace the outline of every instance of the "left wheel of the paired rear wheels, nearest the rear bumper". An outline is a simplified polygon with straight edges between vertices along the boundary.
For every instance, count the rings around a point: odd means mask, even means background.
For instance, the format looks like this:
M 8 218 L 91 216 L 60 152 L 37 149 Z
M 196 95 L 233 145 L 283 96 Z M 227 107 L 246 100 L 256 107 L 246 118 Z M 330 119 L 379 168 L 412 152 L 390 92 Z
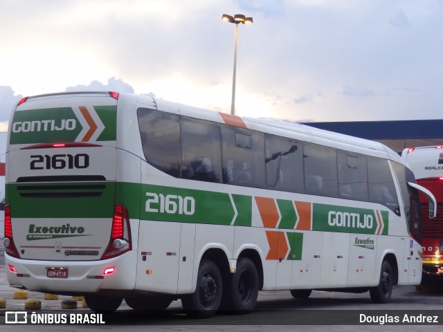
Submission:
M 182 297 L 181 304 L 191 317 L 212 317 L 220 306 L 222 292 L 219 268 L 213 261 L 202 259 L 195 292 Z

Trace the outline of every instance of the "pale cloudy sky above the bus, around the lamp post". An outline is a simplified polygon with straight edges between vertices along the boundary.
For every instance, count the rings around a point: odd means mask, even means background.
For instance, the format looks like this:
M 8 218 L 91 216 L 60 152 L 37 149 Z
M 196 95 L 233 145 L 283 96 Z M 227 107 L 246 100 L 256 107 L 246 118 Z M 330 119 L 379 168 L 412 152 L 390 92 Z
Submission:
M 442 118 L 442 0 L 0 0 L 0 131 L 26 95 L 112 90 L 240 116 Z

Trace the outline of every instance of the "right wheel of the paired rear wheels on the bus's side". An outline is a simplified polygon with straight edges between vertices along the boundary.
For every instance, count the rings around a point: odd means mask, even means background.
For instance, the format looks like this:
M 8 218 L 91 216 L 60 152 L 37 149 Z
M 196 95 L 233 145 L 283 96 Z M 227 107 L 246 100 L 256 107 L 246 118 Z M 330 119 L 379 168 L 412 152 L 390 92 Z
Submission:
M 224 309 L 237 314 L 253 311 L 258 297 L 258 273 L 251 259 L 239 259 L 224 291 Z

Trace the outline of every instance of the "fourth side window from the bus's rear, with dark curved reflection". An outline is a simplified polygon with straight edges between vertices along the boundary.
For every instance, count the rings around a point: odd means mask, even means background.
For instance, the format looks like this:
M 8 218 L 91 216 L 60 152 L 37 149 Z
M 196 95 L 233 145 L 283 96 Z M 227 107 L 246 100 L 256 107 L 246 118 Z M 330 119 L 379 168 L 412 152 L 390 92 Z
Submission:
M 265 135 L 266 181 L 269 189 L 302 192 L 302 144 L 291 138 Z

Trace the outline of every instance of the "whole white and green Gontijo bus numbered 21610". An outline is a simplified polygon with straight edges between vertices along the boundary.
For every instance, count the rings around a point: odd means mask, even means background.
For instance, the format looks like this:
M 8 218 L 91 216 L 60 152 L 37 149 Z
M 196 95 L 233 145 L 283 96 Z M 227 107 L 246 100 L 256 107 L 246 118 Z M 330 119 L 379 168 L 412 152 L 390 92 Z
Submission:
M 9 283 L 81 294 L 94 311 L 181 299 L 198 317 L 246 313 L 274 290 L 388 302 L 422 275 L 417 190 L 435 199 L 378 142 L 142 95 L 57 93 L 19 102 L 6 162 Z

